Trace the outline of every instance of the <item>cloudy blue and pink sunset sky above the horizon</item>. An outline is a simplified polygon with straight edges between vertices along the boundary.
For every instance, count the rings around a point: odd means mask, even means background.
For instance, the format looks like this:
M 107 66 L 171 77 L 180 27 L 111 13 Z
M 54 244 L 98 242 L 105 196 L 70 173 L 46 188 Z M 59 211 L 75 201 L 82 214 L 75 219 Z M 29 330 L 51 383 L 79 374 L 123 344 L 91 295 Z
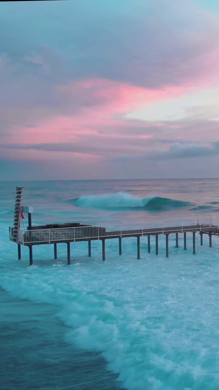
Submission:
M 219 177 L 218 0 L 0 2 L 0 180 Z

